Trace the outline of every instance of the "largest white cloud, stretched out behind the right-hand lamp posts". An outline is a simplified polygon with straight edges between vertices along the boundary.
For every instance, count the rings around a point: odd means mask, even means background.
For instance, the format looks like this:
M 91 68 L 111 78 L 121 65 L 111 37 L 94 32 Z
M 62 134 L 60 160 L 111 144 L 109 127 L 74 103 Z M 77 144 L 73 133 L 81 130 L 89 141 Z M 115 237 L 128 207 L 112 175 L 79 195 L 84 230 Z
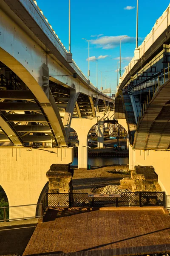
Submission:
M 100 38 L 92 39 L 91 44 L 96 44 L 96 47 L 102 47 L 103 49 L 111 49 L 114 47 L 119 46 L 120 44 L 120 38 L 124 37 L 124 35 L 118 35 L 118 36 L 102 36 Z M 142 38 L 138 38 L 139 41 L 142 40 Z M 126 36 L 122 39 L 122 44 L 128 43 L 128 44 L 135 44 L 136 38 Z

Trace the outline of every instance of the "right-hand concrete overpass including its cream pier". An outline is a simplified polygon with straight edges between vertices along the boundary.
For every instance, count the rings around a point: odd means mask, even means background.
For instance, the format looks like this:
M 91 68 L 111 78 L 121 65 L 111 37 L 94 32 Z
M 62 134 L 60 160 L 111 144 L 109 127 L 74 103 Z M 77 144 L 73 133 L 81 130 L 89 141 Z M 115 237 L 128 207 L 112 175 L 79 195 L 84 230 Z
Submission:
M 129 167 L 153 166 L 170 194 L 170 5 L 119 79 L 115 117 L 129 134 Z

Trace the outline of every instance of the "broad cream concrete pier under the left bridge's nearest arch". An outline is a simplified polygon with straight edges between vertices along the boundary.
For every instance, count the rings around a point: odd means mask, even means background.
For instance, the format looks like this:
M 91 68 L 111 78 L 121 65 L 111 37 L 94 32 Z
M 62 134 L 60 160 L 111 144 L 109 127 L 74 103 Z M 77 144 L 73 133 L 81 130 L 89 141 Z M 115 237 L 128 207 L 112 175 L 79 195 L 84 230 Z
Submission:
M 69 164 L 73 148 L 0 148 L 0 185 L 9 206 L 37 204 L 53 163 Z M 34 212 L 35 213 L 35 212 Z M 32 216 L 32 212 L 30 213 Z M 27 216 L 29 217 L 29 216 Z M 15 218 L 11 208 L 10 218 Z

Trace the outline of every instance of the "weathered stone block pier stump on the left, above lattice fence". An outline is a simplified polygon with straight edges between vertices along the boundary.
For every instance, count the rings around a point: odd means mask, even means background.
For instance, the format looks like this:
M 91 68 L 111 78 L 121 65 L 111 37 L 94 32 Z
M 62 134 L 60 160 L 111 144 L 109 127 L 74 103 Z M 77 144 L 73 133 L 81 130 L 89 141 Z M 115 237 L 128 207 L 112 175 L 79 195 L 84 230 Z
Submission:
M 52 164 L 46 176 L 49 180 L 49 193 L 73 192 L 73 170 L 70 169 L 70 164 Z

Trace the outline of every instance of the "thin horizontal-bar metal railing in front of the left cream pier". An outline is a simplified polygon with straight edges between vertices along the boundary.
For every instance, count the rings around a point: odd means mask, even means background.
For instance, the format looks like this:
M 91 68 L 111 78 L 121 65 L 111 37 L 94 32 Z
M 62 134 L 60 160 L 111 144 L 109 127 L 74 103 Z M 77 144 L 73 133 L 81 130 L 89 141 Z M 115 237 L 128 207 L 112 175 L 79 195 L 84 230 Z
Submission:
M 0 207 L 0 221 L 14 221 L 42 217 L 42 204 Z

